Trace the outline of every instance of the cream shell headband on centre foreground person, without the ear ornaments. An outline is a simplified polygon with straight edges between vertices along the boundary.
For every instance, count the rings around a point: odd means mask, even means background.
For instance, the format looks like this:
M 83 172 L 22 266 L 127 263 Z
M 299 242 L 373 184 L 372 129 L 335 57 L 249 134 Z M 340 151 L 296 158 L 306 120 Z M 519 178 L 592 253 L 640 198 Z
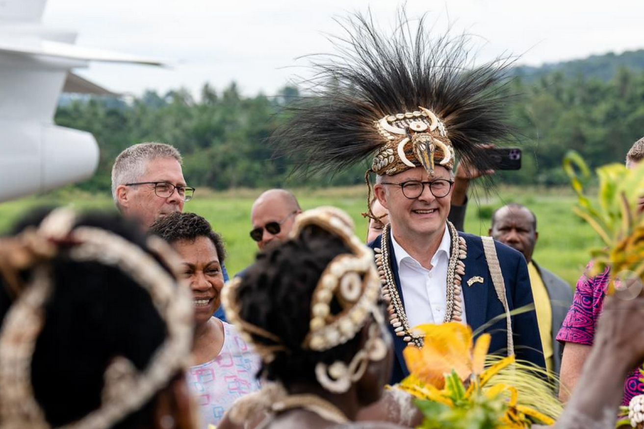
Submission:
M 352 253 L 336 256 L 323 271 L 311 300 L 310 330 L 302 348 L 325 351 L 354 338 L 365 325 L 366 318 L 375 310 L 380 296 L 380 280 L 374 265 L 372 250 L 355 237 L 354 224 L 348 215 L 334 207 L 319 207 L 299 214 L 290 232 L 290 239 L 297 237 L 309 225 L 317 225 L 340 237 Z M 240 331 L 245 341 L 253 343 L 265 360 L 272 359 L 275 351 L 286 350 L 273 333 L 256 327 L 239 316 L 235 290 L 242 280 L 234 278 L 222 289 L 222 303 L 226 316 Z M 336 298 L 341 311 L 330 312 L 330 303 Z M 252 340 L 251 334 L 269 340 L 265 345 Z

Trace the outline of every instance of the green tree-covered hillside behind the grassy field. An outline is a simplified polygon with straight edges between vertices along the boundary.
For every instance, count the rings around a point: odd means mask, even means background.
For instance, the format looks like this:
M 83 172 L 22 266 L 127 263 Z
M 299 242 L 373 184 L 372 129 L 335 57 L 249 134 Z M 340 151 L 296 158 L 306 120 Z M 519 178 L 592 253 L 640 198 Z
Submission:
M 623 161 L 644 136 L 644 50 L 585 60 L 516 68 L 507 91 L 511 121 L 524 147 L 519 172 L 500 174 L 512 183 L 567 183 L 561 168 L 569 149 L 594 167 Z M 294 185 L 352 185 L 364 180 L 365 165 L 334 178 L 290 178 L 289 161 L 272 151 L 267 137 L 285 120 L 279 114 L 298 96 L 284 87 L 275 96 L 242 96 L 236 84 L 223 91 L 209 85 L 194 98 L 184 89 L 147 91 L 124 102 L 113 98 L 68 98 L 58 125 L 89 131 L 100 146 L 97 174 L 79 185 L 108 190 L 111 164 L 122 149 L 142 141 L 164 141 L 184 154 L 191 185 L 216 189 Z

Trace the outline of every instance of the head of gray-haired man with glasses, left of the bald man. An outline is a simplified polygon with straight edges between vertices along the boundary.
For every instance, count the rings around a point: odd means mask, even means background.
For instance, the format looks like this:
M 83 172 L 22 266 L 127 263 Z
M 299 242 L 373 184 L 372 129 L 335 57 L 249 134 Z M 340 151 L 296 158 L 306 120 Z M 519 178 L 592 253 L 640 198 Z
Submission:
M 120 152 L 112 167 L 118 210 L 147 230 L 156 218 L 182 212 L 194 188 L 185 185 L 179 151 L 164 143 L 140 143 Z

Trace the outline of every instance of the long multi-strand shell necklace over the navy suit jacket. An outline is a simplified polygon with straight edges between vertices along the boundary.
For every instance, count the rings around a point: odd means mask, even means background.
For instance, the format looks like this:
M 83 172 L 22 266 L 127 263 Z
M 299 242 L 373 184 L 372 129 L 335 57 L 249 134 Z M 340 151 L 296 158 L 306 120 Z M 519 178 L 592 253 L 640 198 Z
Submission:
M 462 322 L 463 305 L 462 289 L 460 282 L 465 275 L 465 264 L 463 259 L 468 257 L 468 246 L 463 237 L 459 236 L 454 225 L 448 221 L 450 228 L 450 262 L 447 269 L 447 308 L 443 323 Z M 393 331 L 397 336 L 403 337 L 403 341 L 413 343 L 417 347 L 422 347 L 422 334 L 413 331 L 409 325 L 409 320 L 404 312 L 403 301 L 401 300 L 398 289 L 396 288 L 393 278 L 391 255 L 389 252 L 389 235 L 391 225 L 386 224 L 383 228 L 383 238 L 381 240 L 382 248 L 375 248 L 375 264 L 378 266 L 378 274 L 383 284 L 384 298 L 389 300 L 389 322 L 393 326 Z

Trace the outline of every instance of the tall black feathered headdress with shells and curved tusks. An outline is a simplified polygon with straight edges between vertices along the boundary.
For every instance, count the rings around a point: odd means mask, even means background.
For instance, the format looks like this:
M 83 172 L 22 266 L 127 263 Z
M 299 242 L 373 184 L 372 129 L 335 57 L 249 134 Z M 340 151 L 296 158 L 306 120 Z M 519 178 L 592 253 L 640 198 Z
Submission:
M 307 172 L 338 172 L 370 156 L 376 174 L 438 163 L 453 169 L 455 152 L 480 170 L 486 143 L 506 138 L 504 75 L 510 62 L 474 66 L 468 38 L 430 39 L 404 10 L 392 34 L 367 15 L 341 23 L 337 53 L 314 55 L 312 96 L 287 109 L 274 141 Z M 489 151 L 488 151 L 489 152 Z

